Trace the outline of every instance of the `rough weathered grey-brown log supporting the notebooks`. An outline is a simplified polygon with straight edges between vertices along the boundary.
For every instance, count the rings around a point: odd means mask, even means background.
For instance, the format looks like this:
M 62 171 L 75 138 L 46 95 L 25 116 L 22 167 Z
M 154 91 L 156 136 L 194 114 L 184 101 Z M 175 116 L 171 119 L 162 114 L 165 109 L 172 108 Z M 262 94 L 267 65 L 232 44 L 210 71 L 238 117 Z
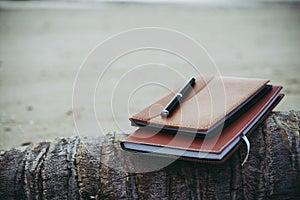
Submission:
M 134 173 L 154 158 L 133 162 L 115 133 L 2 151 L 0 199 L 300 199 L 299 117 L 272 113 L 251 135 L 243 167 L 241 147 L 223 164 L 175 161 Z

